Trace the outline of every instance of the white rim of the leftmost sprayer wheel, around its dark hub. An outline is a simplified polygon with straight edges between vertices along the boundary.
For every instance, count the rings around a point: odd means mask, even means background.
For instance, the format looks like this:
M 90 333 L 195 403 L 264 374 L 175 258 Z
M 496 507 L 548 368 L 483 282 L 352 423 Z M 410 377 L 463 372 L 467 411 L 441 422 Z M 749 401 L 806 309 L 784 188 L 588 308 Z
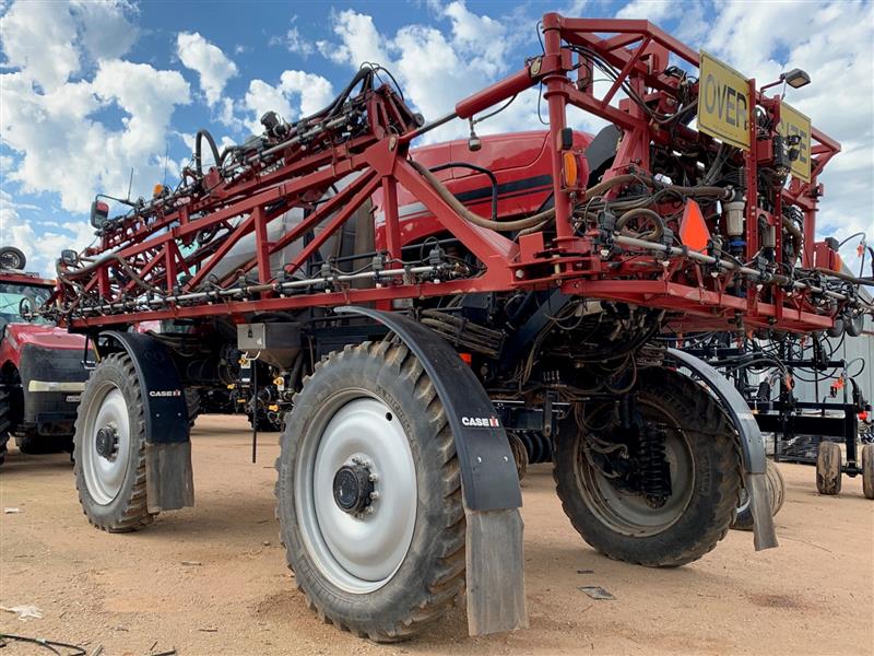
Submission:
M 82 461 L 85 485 L 99 505 L 110 504 L 121 491 L 130 459 L 130 418 L 125 395 L 114 384 L 106 383 L 97 389 L 99 399 L 91 406 L 85 418 L 82 444 L 76 445 L 76 457 Z M 101 429 L 110 429 L 117 436 L 115 452 L 103 456 L 97 452 Z

